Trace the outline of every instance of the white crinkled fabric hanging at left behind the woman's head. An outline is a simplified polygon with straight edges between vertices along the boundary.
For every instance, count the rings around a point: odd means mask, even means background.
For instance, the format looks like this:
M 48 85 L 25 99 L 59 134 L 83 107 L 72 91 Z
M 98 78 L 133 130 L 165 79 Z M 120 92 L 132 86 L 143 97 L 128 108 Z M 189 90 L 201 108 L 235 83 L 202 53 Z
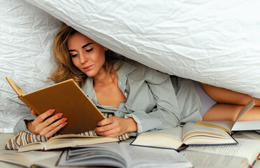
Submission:
M 5 1 L 0 10 L 0 132 L 13 132 L 29 109 L 6 77 L 27 92 L 52 84 L 46 80 L 52 69 L 52 39 L 61 21 L 20 0 Z

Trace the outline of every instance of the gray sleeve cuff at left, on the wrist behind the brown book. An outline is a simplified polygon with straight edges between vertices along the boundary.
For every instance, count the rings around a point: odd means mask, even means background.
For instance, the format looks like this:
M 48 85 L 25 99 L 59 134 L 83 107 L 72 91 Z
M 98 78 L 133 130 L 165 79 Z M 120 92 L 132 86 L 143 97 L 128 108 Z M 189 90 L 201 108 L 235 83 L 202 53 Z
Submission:
M 24 116 L 23 118 L 21 118 L 20 120 L 18 120 L 18 122 L 16 123 L 15 127 L 13 128 L 13 134 L 18 134 L 19 132 L 27 132 L 27 133 L 31 133 L 28 129 L 27 129 L 27 125 L 26 122 L 29 120 L 34 120 L 35 116 L 32 115 L 31 113 L 28 113 L 26 116 Z

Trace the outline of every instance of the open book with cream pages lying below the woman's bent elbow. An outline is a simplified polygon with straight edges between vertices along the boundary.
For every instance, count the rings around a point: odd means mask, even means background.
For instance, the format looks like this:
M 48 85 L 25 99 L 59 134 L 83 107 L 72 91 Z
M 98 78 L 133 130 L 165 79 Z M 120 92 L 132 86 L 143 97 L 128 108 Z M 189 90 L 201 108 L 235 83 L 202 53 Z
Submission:
M 131 143 L 134 146 L 182 150 L 185 145 L 237 144 L 224 130 L 186 123 L 183 127 L 143 132 Z

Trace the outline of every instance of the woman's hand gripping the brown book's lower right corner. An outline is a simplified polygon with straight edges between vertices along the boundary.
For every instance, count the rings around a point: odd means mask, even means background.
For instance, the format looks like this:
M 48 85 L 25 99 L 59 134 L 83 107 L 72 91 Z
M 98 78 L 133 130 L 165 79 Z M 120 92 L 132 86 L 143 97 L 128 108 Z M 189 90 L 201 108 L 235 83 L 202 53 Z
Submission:
M 95 128 L 102 137 L 117 137 L 127 132 L 136 132 L 137 124 L 133 118 L 110 117 L 101 120 Z

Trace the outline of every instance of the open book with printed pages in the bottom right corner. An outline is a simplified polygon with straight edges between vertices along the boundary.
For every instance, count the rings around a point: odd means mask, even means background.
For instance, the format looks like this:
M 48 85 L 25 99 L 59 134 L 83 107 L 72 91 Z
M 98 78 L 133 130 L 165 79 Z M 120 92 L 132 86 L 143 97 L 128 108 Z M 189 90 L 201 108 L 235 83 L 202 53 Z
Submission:
M 194 167 L 249 167 L 254 165 L 260 153 L 260 141 L 237 139 L 237 145 L 189 146 L 180 154 Z

